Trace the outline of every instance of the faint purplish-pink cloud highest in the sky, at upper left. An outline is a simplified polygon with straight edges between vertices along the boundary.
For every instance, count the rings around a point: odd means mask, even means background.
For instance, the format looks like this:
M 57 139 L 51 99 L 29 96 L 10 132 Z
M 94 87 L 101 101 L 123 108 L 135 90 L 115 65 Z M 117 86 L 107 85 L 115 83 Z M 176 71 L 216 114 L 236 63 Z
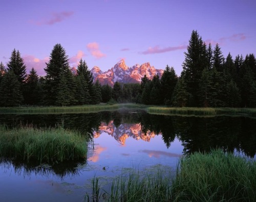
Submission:
M 66 18 L 70 17 L 73 14 L 74 14 L 73 11 L 69 11 L 69 12 L 68 11 L 63 11 L 63 12 L 60 12 L 60 13 L 52 13 L 48 19 L 42 19 L 42 20 L 39 20 L 39 21 L 31 21 L 31 22 L 38 25 L 38 26 L 41 26 L 41 25 L 44 25 L 44 24 L 52 25 L 52 24 L 55 24 L 57 22 L 61 22 L 61 21 L 65 20 Z

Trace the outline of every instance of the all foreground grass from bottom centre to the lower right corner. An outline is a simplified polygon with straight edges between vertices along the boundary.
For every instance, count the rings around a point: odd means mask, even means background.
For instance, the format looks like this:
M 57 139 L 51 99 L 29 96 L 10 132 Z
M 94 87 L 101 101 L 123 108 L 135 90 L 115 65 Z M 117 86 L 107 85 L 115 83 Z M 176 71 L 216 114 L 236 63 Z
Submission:
M 256 201 L 256 162 L 214 150 L 182 158 L 176 176 L 133 171 L 118 176 L 110 191 L 92 181 L 87 201 Z

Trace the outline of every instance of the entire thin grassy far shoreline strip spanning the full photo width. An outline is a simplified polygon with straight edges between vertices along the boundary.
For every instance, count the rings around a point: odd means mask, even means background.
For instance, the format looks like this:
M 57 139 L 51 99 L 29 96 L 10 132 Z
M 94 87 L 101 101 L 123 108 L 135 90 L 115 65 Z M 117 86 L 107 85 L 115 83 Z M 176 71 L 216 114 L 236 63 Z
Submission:
M 197 108 L 197 107 L 163 107 L 140 104 L 102 104 L 65 107 L 9 107 L 0 108 L 0 114 L 61 114 L 61 113 L 93 113 L 118 109 L 142 109 L 150 114 L 178 116 L 256 116 L 256 108 Z

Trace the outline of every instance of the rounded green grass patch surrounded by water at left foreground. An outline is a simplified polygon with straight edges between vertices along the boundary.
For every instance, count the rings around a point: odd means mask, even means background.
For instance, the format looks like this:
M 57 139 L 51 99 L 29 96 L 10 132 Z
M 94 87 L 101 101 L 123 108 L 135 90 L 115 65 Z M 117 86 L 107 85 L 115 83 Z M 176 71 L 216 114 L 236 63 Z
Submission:
M 64 129 L 0 127 L 0 156 L 36 160 L 40 163 L 86 158 L 87 141 L 79 133 Z

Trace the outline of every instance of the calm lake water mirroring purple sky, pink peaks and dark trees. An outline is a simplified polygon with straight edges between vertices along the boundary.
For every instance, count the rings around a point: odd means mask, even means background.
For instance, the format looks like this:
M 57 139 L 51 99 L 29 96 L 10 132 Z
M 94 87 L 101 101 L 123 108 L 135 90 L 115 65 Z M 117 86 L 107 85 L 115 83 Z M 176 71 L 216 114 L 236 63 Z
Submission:
M 108 187 L 130 169 L 175 172 L 182 155 L 220 147 L 248 158 L 256 153 L 256 119 L 186 117 L 119 110 L 90 114 L 1 115 L 0 124 L 63 127 L 91 138 L 87 160 L 54 165 L 0 157 L 0 201 L 83 201 L 91 180 Z

